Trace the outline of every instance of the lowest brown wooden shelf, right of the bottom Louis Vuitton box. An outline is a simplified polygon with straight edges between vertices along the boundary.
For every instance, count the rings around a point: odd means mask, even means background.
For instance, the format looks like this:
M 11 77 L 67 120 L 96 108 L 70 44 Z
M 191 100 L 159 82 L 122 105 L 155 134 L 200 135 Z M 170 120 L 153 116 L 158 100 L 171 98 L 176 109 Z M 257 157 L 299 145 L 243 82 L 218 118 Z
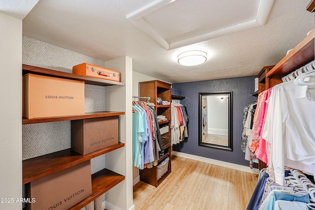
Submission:
M 103 169 L 99 172 L 96 172 L 92 175 L 92 195 L 71 207 L 69 210 L 82 209 L 123 180 L 125 180 L 124 176 L 108 169 Z

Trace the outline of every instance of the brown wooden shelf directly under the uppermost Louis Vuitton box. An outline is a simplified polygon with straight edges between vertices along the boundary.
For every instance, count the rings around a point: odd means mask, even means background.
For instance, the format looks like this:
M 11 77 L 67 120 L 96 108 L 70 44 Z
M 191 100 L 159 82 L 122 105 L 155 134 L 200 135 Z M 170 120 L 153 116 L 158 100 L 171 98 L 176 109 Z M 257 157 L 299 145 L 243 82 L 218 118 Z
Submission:
M 75 115 L 75 116 L 35 118 L 35 119 L 22 118 L 22 124 L 56 122 L 56 121 L 65 121 L 65 120 L 81 120 L 81 119 L 91 119 L 91 118 L 104 118 L 104 117 L 112 117 L 112 116 L 119 116 L 119 115 L 125 115 L 125 112 L 86 112 L 85 115 Z

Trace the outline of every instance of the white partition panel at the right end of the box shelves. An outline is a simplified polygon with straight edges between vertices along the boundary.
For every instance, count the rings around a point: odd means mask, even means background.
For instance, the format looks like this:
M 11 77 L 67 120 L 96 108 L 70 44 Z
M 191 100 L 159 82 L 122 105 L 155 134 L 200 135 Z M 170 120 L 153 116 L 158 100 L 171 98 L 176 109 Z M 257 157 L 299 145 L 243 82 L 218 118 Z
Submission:
M 105 62 L 105 67 L 121 72 L 125 86 L 106 87 L 107 111 L 125 111 L 119 117 L 119 142 L 124 148 L 106 153 L 106 168 L 125 176 L 125 180 L 106 192 L 107 210 L 134 210 L 132 197 L 132 59 L 120 57 Z

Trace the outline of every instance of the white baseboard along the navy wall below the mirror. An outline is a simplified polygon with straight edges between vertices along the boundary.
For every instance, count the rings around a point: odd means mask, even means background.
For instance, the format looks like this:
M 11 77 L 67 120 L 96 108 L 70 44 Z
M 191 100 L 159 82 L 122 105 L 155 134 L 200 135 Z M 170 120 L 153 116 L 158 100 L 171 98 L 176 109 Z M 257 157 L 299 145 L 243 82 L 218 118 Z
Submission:
M 223 166 L 226 168 L 231 168 L 231 169 L 244 171 L 244 172 L 248 172 L 248 173 L 252 173 L 252 174 L 259 174 L 259 170 L 256 168 L 250 169 L 250 167 L 248 167 L 248 166 L 224 162 L 221 160 L 215 160 L 215 159 L 211 159 L 211 158 L 207 158 L 207 157 L 200 157 L 197 155 L 187 154 L 187 153 L 183 153 L 183 152 L 179 152 L 179 151 L 172 151 L 172 155 L 179 156 L 179 157 L 185 157 L 185 158 L 189 158 L 192 160 L 198 160 L 201 162 L 211 163 L 214 165 L 219 165 L 219 166 Z

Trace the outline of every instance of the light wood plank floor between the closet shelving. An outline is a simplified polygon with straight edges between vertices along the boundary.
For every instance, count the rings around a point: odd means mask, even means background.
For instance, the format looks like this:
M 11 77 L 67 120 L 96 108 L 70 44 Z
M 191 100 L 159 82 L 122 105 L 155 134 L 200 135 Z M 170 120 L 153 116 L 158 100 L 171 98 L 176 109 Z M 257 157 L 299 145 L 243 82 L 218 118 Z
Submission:
M 135 210 L 246 210 L 258 175 L 172 156 L 172 173 L 158 186 L 133 187 Z

